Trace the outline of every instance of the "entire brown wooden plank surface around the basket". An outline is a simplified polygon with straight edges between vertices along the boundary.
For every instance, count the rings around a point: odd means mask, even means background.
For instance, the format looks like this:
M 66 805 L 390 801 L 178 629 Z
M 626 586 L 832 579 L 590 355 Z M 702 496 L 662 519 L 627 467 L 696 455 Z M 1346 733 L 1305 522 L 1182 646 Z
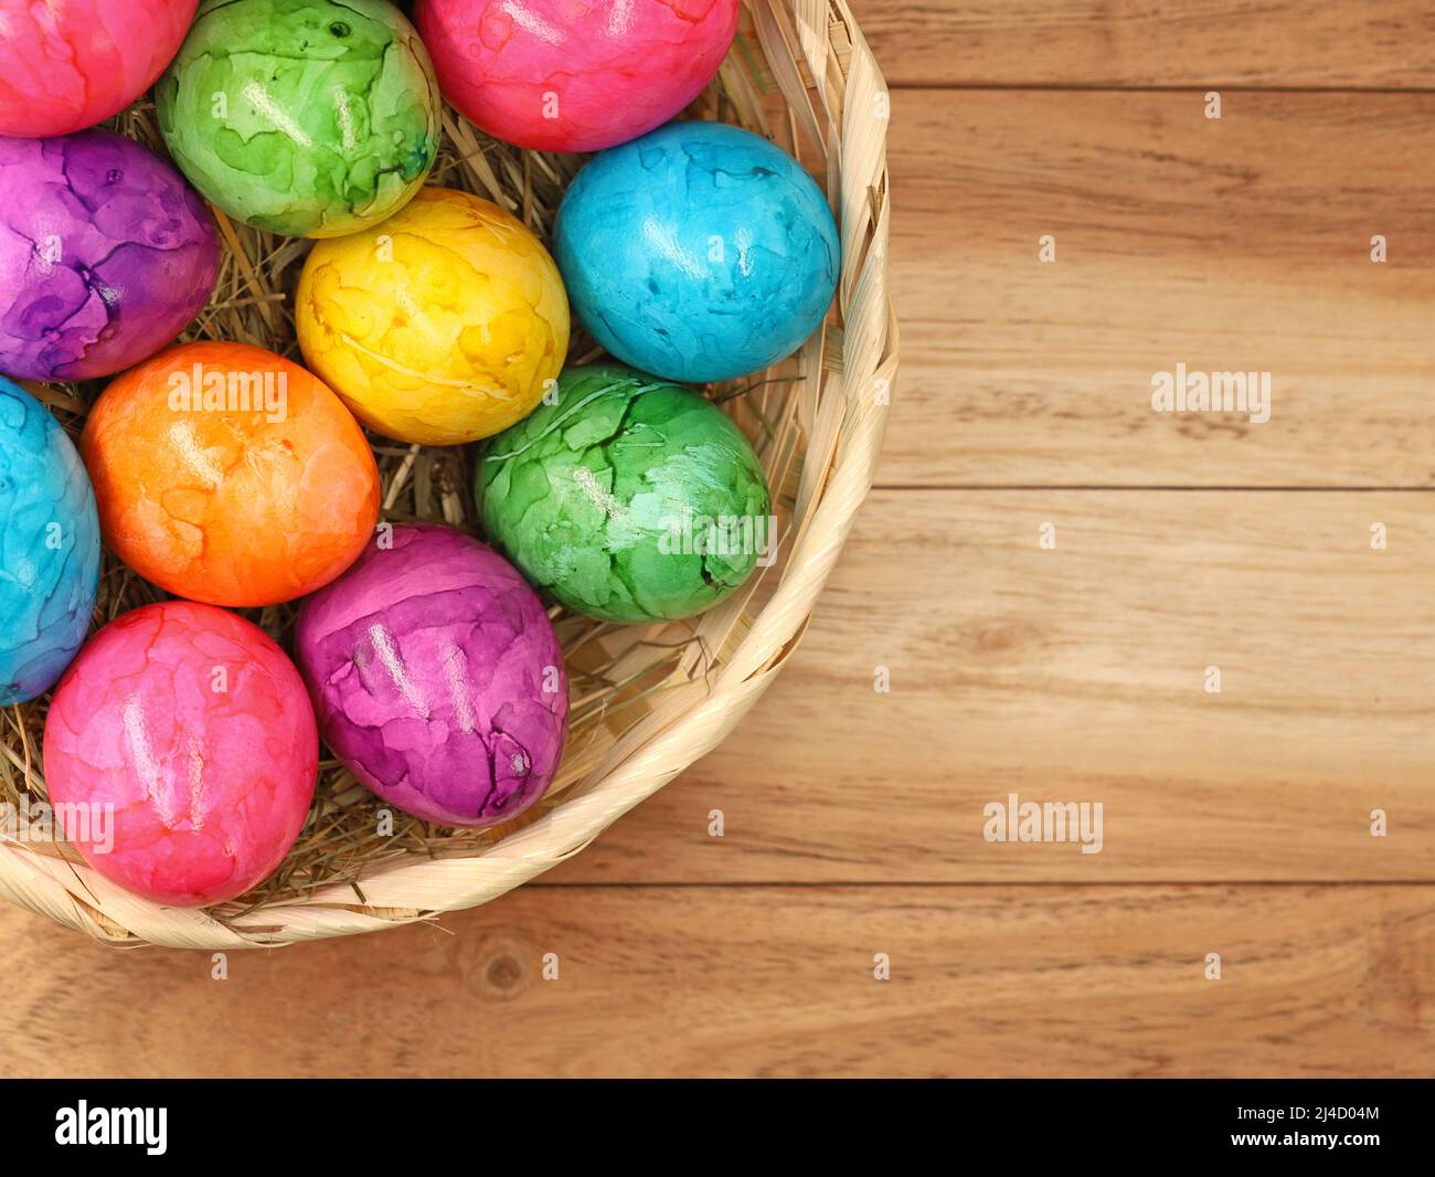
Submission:
M 1435 1074 L 1435 9 L 854 7 L 904 372 L 759 713 L 441 927 L 214 980 L 0 910 L 0 1072 Z M 1178 362 L 1270 422 L 1154 413 Z M 986 843 L 1009 792 L 1104 851 Z

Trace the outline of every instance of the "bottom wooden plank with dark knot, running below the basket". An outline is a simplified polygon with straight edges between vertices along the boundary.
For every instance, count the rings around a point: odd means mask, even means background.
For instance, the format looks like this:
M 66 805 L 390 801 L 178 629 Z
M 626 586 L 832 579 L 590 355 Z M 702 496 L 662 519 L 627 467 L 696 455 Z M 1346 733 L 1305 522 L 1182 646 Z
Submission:
M 1428 887 L 528 887 L 116 955 L 0 910 L 4 1074 L 1428 1075 Z M 557 953 L 558 979 L 541 977 Z M 891 979 L 872 976 L 887 953 Z M 1221 980 L 1207 980 L 1220 953 Z M 199 1031 L 198 1033 L 195 1031 Z

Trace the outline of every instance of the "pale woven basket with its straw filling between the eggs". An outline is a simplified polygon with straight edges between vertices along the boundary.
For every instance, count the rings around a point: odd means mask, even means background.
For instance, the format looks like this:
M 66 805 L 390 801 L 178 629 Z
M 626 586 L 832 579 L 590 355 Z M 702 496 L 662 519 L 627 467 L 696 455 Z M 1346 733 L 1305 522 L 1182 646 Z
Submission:
M 825 184 L 841 227 L 842 274 L 824 330 L 785 363 L 706 389 L 753 439 L 773 491 L 776 560 L 733 597 L 683 623 L 613 626 L 554 609 L 573 708 L 547 797 L 508 825 L 430 827 L 396 814 L 336 762 L 320 764 L 310 820 L 255 891 L 204 910 L 164 907 L 99 877 L 63 843 L 0 838 L 0 894 L 121 944 L 241 949 L 376 932 L 486 903 L 578 854 L 613 821 L 712 751 L 769 686 L 806 629 L 872 482 L 897 370 L 887 284 L 887 88 L 844 0 L 743 0 L 739 37 L 699 118 L 740 123 L 796 155 Z M 162 151 L 148 102 L 113 125 Z M 432 182 L 494 200 L 547 237 L 583 159 L 489 141 L 452 111 Z M 220 283 L 187 337 L 244 339 L 296 356 L 288 307 L 309 243 L 217 214 Z M 583 337 L 571 362 L 600 355 Z M 77 432 L 99 386 L 39 386 Z M 474 454 L 370 438 L 383 517 L 478 531 Z M 96 623 L 161 599 L 106 554 Z M 281 643 L 291 606 L 250 610 Z M 44 801 L 46 700 L 0 712 L 0 801 Z

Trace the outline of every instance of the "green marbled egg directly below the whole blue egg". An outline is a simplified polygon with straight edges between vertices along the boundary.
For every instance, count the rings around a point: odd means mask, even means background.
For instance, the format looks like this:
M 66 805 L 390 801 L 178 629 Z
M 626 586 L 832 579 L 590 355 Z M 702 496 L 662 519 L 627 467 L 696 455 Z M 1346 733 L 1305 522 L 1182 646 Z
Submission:
M 557 403 L 489 442 L 475 494 L 532 584 L 604 622 L 700 613 L 776 544 L 738 426 L 692 389 L 618 365 L 565 370 Z

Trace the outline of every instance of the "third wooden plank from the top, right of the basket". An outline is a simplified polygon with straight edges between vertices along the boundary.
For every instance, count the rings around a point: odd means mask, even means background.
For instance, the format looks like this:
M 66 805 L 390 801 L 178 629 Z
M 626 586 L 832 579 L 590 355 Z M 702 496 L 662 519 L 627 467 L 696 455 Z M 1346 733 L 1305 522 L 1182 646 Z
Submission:
M 878 491 L 756 712 L 547 877 L 1435 878 L 1432 505 Z M 1012 792 L 1102 802 L 1102 851 L 986 841 Z

